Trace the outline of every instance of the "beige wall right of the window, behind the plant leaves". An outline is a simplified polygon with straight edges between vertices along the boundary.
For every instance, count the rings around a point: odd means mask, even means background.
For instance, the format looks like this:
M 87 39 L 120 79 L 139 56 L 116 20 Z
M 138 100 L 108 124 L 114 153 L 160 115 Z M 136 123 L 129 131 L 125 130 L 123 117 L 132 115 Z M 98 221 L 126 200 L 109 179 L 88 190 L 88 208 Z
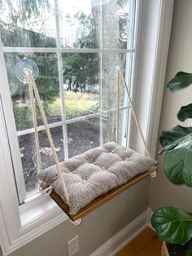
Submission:
M 178 71 L 192 73 L 191 11 L 191 0 L 175 0 L 166 83 Z M 165 89 L 159 134 L 162 130 L 168 130 L 170 127 L 176 126 L 177 124 L 183 125 L 183 123 L 177 121 L 177 111 L 181 108 L 181 105 L 190 104 L 191 102 L 192 86 L 175 93 L 171 93 L 169 90 Z M 151 208 L 156 209 L 162 205 L 177 205 L 185 210 L 192 211 L 192 189 L 186 188 L 185 186 L 175 186 L 169 183 L 162 168 L 163 157 L 158 157 L 158 160 L 158 178 L 154 179 L 151 183 Z

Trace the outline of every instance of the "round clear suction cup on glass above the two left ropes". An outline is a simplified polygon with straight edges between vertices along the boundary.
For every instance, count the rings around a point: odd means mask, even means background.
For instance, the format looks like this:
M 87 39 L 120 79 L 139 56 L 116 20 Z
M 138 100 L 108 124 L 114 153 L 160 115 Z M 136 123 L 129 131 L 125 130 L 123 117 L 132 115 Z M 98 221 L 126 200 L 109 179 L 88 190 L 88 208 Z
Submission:
M 36 80 L 38 77 L 38 68 L 37 64 L 33 60 L 24 58 L 15 65 L 15 75 L 21 82 L 28 82 L 28 75 L 26 73 L 28 69 L 31 70 L 33 79 Z

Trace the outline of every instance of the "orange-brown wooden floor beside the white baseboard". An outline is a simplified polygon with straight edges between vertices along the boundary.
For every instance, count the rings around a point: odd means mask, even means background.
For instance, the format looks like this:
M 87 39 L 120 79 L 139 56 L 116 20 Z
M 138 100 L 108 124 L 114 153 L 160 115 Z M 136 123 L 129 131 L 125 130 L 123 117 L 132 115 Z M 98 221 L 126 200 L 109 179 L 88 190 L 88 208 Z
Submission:
M 123 249 L 121 249 L 120 252 L 116 254 L 116 256 L 137 255 L 137 253 L 154 238 L 155 238 L 155 232 L 151 230 L 150 227 L 146 227 L 146 229 L 141 234 L 136 236 L 133 239 L 133 241 L 129 243 L 129 245 L 126 245 Z M 147 256 L 149 255 L 151 254 L 147 254 Z

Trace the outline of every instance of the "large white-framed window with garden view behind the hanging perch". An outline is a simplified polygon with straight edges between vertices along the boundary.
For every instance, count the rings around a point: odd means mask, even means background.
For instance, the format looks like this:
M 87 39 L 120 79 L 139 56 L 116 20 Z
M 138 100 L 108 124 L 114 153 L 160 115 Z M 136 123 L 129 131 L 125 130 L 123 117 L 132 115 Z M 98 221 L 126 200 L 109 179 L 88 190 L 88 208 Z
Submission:
M 10 20 L 3 20 L 1 25 L 0 241 L 5 253 L 67 218 L 53 201 L 37 192 L 28 87 L 15 77 L 18 60 L 27 57 L 37 63 L 36 83 L 59 161 L 107 141 L 116 141 L 114 66 L 119 64 L 131 88 L 148 145 L 155 149 L 163 93 L 159 82 L 164 81 L 172 1 L 148 0 L 146 5 L 146 1 L 131 0 L 126 7 L 117 7 L 116 1 L 101 5 L 94 4 L 96 0 L 85 2 L 85 13 L 81 9 L 74 13 L 71 3 L 64 7 L 63 1 L 55 0 L 41 14 L 41 26 L 35 20 L 37 16 L 31 16 L 26 27 L 22 27 L 20 20 L 15 27 L 8 24 Z M 111 20 L 109 10 L 118 14 L 116 19 Z M 49 19 L 52 27 L 47 25 Z M 167 29 L 163 30 L 164 27 Z M 113 31 L 118 31 L 117 37 Z M 143 152 L 122 88 L 120 97 L 120 143 Z M 37 117 L 41 158 L 46 168 L 54 162 L 38 110 Z M 7 200 L 1 196 L 5 192 Z

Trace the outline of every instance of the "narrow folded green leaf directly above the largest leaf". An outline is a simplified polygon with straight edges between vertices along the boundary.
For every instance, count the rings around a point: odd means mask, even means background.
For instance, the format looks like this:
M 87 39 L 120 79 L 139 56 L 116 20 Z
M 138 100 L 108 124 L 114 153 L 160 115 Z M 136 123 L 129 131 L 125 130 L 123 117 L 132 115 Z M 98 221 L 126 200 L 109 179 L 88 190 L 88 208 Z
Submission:
M 162 149 L 159 153 L 175 148 L 185 136 L 192 134 L 192 127 L 175 126 L 172 130 L 163 130 L 159 137 Z

